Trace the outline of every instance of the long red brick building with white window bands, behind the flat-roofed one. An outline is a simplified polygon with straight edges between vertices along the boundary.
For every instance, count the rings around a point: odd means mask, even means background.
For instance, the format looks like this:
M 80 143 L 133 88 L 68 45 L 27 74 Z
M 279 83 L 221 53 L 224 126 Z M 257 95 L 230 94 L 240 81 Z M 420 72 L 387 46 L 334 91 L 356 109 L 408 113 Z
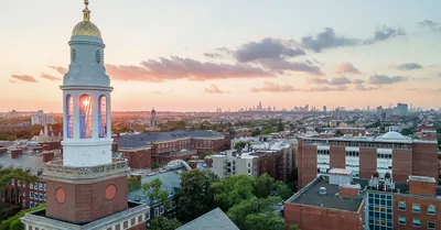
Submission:
M 397 132 L 367 136 L 303 138 L 299 141 L 299 185 L 303 187 L 333 167 L 348 168 L 356 178 L 375 171 L 396 182 L 409 175 L 438 178 L 438 146 L 433 140 L 412 140 Z

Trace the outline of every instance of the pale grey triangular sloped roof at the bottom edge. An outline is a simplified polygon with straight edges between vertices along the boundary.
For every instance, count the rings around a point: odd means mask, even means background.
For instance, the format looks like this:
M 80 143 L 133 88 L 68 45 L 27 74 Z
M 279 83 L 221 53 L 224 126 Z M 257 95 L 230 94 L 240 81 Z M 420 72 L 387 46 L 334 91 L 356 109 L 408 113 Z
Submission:
M 237 226 L 220 210 L 213 209 L 209 212 L 187 222 L 176 230 L 239 230 Z

